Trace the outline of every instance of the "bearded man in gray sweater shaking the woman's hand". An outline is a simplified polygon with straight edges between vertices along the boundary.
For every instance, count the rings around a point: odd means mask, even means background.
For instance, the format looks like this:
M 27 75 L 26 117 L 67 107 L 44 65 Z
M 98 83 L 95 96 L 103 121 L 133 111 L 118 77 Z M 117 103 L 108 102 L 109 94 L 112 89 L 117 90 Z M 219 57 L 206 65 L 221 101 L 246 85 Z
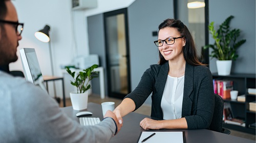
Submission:
M 17 60 L 22 30 L 11 1 L 0 0 L 0 67 Z M 122 126 L 112 111 L 98 125 L 80 126 L 40 88 L 0 69 L 0 142 L 109 142 Z

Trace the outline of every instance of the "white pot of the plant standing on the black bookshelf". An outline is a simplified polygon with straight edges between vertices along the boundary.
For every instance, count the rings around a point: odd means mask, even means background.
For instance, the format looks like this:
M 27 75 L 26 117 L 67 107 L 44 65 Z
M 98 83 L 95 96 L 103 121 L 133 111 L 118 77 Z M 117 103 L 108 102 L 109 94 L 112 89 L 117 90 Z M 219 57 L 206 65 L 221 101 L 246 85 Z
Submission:
M 216 61 L 219 75 L 229 75 L 231 71 L 232 60 Z

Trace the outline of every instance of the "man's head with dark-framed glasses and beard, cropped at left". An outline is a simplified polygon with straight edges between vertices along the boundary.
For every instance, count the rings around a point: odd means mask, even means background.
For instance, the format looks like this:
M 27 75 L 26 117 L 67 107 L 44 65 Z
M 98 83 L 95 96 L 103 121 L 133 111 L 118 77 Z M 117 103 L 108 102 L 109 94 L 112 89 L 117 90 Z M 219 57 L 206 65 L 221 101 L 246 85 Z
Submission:
M 17 32 L 18 16 L 10 0 L 0 0 L 0 65 L 17 61 L 18 41 L 22 36 Z

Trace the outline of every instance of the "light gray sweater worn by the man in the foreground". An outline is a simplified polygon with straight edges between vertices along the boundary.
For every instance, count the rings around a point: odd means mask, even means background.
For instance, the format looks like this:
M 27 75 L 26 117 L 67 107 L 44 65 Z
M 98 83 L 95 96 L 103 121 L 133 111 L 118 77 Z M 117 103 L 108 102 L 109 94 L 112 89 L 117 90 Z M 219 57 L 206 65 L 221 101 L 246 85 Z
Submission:
M 80 126 L 45 91 L 0 71 L 0 142 L 109 142 L 115 130 L 111 118 Z

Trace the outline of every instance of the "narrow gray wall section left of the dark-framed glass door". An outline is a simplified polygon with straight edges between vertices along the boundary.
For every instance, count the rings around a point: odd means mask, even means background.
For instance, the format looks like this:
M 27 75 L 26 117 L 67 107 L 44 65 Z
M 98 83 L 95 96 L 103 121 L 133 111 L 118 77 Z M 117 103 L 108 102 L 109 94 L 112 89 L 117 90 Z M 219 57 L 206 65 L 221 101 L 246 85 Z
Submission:
M 105 38 L 104 38 L 104 22 L 103 14 L 89 16 L 88 19 L 88 41 L 90 54 L 99 55 L 99 66 L 104 68 L 105 80 L 105 94 L 108 94 L 108 83 L 106 74 L 106 52 L 105 52 Z M 100 95 L 99 79 L 92 80 L 92 93 Z

